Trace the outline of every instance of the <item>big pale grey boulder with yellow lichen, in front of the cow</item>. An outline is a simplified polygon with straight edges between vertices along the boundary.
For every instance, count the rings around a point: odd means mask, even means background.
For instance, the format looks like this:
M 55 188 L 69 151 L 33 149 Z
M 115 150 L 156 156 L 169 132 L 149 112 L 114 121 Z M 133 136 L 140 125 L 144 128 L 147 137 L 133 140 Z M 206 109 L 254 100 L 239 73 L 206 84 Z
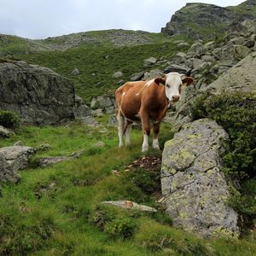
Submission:
M 174 225 L 201 236 L 238 236 L 237 214 L 227 206 L 228 185 L 219 152 L 226 132 L 209 119 L 185 125 L 165 145 L 161 188 Z

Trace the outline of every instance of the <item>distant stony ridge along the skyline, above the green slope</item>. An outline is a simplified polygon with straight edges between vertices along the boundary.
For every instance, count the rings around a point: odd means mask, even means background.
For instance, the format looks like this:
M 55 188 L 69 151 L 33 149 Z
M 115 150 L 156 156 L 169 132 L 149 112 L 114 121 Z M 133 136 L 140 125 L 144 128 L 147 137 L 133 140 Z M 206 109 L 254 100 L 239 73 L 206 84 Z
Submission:
M 40 51 L 63 51 L 82 45 L 125 46 L 156 44 L 165 41 L 168 41 L 168 39 L 160 33 L 121 29 L 79 32 L 39 40 L 0 34 L 0 55 L 31 54 Z

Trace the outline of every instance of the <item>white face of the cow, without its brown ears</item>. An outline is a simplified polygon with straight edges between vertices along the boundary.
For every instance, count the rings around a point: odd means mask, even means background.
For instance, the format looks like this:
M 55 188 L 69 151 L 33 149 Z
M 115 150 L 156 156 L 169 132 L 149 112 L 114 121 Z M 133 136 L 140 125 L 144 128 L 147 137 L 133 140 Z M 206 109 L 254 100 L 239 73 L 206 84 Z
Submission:
M 180 73 L 167 73 L 166 74 L 166 98 L 170 102 L 177 102 L 180 97 L 183 79 L 187 76 Z

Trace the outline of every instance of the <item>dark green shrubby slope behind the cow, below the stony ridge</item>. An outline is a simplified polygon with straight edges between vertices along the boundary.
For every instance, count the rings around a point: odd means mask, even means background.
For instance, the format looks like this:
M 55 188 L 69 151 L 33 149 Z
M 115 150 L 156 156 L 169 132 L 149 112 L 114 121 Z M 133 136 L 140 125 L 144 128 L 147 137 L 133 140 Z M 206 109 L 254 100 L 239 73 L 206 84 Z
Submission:
M 142 71 L 144 60 L 154 56 L 171 57 L 175 53 L 176 44 L 145 44 L 136 46 L 113 47 L 108 45 L 86 44 L 77 49 L 65 52 L 40 52 L 33 55 L 19 55 L 19 59 L 40 66 L 49 67 L 56 73 L 71 79 L 76 93 L 89 103 L 92 96 L 113 95 L 120 79 L 127 81 L 132 73 Z M 73 76 L 74 68 L 80 74 Z M 113 73 L 121 71 L 124 75 L 119 79 Z

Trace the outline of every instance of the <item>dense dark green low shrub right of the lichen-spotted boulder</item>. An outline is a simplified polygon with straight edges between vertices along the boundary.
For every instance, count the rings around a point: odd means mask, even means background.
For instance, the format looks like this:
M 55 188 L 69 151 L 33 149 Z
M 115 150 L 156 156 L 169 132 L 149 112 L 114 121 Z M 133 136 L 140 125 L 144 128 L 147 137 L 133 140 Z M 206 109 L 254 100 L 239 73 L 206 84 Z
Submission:
M 228 132 L 224 172 L 242 180 L 256 175 L 256 96 L 241 91 L 204 93 L 193 105 L 192 119 L 210 118 Z

